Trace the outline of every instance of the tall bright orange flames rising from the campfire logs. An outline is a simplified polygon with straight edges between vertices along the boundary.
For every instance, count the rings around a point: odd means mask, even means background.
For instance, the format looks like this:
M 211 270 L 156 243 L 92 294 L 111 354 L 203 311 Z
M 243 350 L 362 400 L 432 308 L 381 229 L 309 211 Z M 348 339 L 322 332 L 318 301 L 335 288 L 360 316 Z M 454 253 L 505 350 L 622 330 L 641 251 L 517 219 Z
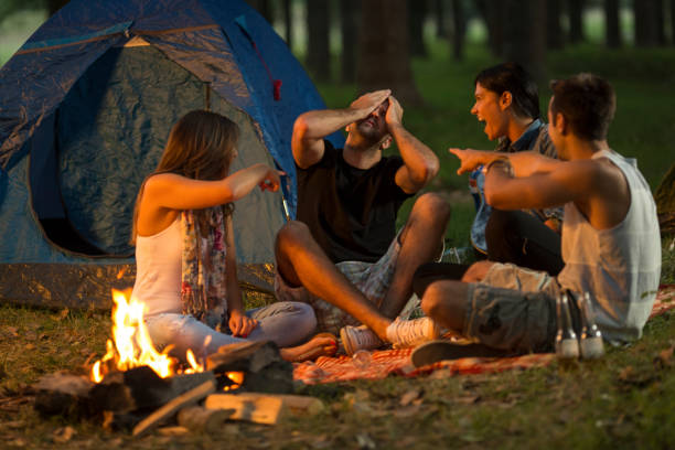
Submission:
M 178 360 L 167 353 L 160 353 L 152 345 L 152 340 L 143 322 L 144 304 L 130 299 L 130 290 L 126 292 L 113 290 L 113 340 L 106 342 L 106 354 L 92 367 L 90 378 L 100 383 L 107 373 L 107 367 L 114 365 L 118 371 L 128 371 L 139 366 L 150 366 L 159 376 L 165 378 L 178 369 Z M 168 352 L 167 349 L 164 352 Z M 191 367 L 183 373 L 204 372 L 204 366 L 197 363 L 192 351 L 188 351 L 188 362 Z

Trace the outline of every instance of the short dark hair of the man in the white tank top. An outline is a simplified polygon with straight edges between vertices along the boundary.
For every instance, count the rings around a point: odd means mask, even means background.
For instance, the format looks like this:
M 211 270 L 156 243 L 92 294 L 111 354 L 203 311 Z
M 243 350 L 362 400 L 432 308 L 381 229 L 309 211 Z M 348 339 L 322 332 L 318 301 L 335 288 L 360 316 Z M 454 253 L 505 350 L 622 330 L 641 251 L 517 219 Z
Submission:
M 550 113 L 561 114 L 572 132 L 588 140 L 604 140 L 617 110 L 612 86 L 597 75 L 582 73 L 550 82 Z

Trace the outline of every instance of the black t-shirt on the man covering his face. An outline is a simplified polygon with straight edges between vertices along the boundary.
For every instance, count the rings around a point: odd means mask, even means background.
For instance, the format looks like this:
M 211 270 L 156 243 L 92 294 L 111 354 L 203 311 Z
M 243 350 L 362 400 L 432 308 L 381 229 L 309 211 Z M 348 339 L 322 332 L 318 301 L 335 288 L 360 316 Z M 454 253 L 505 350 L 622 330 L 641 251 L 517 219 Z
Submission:
M 362 170 L 347 164 L 342 149 L 325 141 L 321 161 L 298 167 L 298 219 L 333 262 L 379 259 L 396 236 L 396 214 L 413 196 L 395 182 L 400 157 Z

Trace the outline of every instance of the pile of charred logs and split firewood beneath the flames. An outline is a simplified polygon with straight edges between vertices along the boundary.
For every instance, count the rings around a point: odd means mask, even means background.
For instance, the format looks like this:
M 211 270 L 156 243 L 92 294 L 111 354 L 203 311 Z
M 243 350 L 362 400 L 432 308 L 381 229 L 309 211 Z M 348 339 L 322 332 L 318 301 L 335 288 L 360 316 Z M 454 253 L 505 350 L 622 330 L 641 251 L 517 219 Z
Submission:
M 274 425 L 286 414 L 323 408 L 317 398 L 291 394 L 292 365 L 271 342 L 225 346 L 208 356 L 201 373 L 161 378 L 140 366 L 111 372 L 100 383 L 55 373 L 33 387 L 34 408 L 44 416 L 97 420 L 132 436 L 165 426 L 213 432 L 226 420 Z

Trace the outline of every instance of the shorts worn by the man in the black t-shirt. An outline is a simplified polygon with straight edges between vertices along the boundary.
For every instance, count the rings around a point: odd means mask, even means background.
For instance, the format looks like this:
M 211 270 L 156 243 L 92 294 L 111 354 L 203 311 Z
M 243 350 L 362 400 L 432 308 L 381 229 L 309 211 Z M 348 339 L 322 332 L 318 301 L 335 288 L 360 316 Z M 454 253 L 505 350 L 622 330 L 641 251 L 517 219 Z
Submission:
M 398 236 L 392 242 L 387 253 L 375 262 L 342 261 L 335 267 L 375 304 L 382 306 L 396 270 L 400 253 Z M 275 293 L 278 301 L 301 301 L 309 303 L 317 314 L 317 330 L 339 335 L 344 325 L 358 325 L 361 322 L 338 307 L 310 293 L 303 287 L 293 288 L 279 275 L 275 276 Z

